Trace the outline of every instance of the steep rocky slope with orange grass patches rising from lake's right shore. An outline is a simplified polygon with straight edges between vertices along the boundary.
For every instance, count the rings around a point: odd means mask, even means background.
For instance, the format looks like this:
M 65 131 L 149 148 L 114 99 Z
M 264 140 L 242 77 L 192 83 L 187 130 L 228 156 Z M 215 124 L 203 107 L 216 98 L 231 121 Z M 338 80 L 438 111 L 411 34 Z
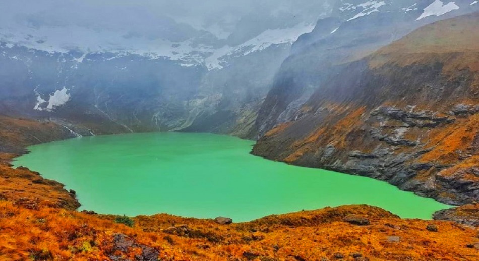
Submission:
M 253 153 L 479 200 L 479 14 L 422 27 L 348 63 Z

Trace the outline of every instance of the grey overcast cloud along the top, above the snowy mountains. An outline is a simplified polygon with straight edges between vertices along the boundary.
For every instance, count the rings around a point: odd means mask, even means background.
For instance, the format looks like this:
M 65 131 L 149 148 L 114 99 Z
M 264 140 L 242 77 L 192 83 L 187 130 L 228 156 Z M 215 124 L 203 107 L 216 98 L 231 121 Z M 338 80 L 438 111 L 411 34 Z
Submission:
M 233 26 L 243 16 L 292 16 L 314 22 L 324 0 L 2 0 L 2 26 L 69 24 L 103 29 L 144 30 L 165 17 L 195 28 L 221 23 Z M 283 17 L 290 21 L 291 17 Z

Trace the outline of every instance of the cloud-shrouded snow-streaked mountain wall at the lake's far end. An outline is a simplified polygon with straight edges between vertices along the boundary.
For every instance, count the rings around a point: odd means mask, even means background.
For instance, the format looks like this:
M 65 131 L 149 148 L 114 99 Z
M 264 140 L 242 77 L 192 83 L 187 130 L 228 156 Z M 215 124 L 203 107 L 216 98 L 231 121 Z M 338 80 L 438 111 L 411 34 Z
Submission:
M 22 10 L 0 18 L 0 108 L 79 135 L 246 136 L 291 44 L 331 12 L 309 1 L 21 2 L 0 4 Z

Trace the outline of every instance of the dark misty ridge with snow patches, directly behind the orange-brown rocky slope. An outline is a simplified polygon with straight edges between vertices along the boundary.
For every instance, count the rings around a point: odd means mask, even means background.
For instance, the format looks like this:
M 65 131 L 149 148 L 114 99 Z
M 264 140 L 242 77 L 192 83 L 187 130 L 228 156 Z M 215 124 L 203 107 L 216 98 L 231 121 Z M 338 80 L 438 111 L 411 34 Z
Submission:
M 293 44 L 259 112 L 254 138 L 297 118 L 313 92 L 350 62 L 421 26 L 473 11 L 479 11 L 479 5 L 469 0 L 336 2 L 329 17 Z

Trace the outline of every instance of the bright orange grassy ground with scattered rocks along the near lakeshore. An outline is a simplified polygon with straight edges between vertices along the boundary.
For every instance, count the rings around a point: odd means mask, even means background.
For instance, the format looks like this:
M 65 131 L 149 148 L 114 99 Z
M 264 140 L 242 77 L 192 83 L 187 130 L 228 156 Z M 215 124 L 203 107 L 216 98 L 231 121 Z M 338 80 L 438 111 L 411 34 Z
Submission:
M 351 217 L 369 224 L 344 221 Z M 452 222 L 403 220 L 366 205 L 231 225 L 165 214 L 134 220 L 130 228 L 116 224 L 113 216 L 26 209 L 0 201 L 0 260 L 479 259 L 476 229 Z

